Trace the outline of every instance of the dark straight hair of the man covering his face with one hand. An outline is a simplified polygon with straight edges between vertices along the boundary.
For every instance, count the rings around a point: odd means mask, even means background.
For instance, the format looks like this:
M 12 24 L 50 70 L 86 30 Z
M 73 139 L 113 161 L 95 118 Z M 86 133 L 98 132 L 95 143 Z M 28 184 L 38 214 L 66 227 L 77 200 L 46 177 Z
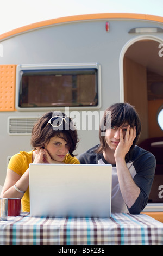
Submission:
M 129 152 L 126 154 L 126 162 L 130 161 L 132 158 L 132 151 L 141 133 L 141 123 L 140 123 L 139 115 L 136 112 L 135 108 L 129 103 L 115 103 L 114 105 L 111 105 L 105 110 L 103 118 L 101 120 L 101 123 L 104 124 L 103 127 L 107 127 L 108 125 L 107 124 L 108 114 L 110 114 L 111 126 L 121 127 L 125 123 L 129 124 L 130 127 L 136 126 L 136 137 L 133 141 L 133 145 L 131 145 L 130 147 Z M 102 126 L 101 126 L 99 129 L 100 145 L 99 145 L 99 148 L 97 149 L 98 153 L 102 153 L 107 147 L 105 136 L 102 136 L 103 132 L 105 131 L 106 131 L 106 128 L 105 130 L 102 130 Z

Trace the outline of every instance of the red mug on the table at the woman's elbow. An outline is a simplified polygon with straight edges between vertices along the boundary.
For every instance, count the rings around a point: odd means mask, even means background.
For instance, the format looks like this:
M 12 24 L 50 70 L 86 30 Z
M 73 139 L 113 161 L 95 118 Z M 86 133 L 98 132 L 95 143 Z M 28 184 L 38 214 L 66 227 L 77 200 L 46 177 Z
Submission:
M 8 216 L 18 216 L 21 213 L 21 198 L 8 198 Z

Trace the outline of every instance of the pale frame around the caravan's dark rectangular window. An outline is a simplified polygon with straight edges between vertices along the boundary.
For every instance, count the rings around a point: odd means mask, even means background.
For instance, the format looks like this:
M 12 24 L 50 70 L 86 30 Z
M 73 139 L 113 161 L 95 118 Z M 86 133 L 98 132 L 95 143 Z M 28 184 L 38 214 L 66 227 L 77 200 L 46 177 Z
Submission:
M 20 94 L 20 81 L 21 81 L 21 71 L 29 70 L 73 70 L 73 69 L 97 69 L 97 96 L 98 105 L 97 106 L 68 106 L 71 110 L 94 110 L 101 108 L 101 66 L 99 63 L 62 63 L 62 64 L 20 64 L 16 68 L 16 97 L 15 97 L 15 107 L 18 111 L 53 111 L 56 108 L 61 111 L 67 106 L 54 106 L 54 107 L 20 107 L 19 106 L 19 94 Z

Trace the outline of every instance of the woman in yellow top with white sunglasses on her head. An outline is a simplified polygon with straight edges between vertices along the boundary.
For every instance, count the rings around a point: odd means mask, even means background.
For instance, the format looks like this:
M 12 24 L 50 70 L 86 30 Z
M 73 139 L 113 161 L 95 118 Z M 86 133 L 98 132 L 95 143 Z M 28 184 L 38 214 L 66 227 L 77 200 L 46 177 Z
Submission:
M 79 164 L 79 160 L 73 155 L 77 142 L 76 126 L 70 117 L 61 112 L 43 115 L 32 130 L 33 150 L 20 151 L 11 157 L 1 197 L 22 198 L 22 210 L 29 212 L 29 164 Z

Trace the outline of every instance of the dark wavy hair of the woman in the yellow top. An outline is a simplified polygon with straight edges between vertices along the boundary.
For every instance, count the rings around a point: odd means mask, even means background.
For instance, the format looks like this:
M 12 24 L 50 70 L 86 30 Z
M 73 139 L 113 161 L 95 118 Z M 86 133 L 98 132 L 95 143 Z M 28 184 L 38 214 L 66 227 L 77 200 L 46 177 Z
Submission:
M 64 120 L 62 125 L 59 126 L 58 129 L 54 129 L 54 127 L 50 123 L 48 123 L 48 121 L 55 115 L 63 118 L 66 117 L 66 115 L 62 112 L 50 111 L 44 114 L 39 120 L 37 120 L 37 123 L 33 126 L 32 136 L 30 140 L 32 148 L 36 149 L 36 147 L 44 147 L 45 143 L 48 143 L 52 137 L 57 136 L 64 139 L 68 143 L 68 145 L 70 146 L 70 155 L 75 156 L 73 154 L 73 151 L 76 150 L 78 143 L 76 126 L 73 124 L 74 129 L 71 129 L 70 126 L 72 125 L 73 121 L 72 119 L 69 119 L 69 129 L 67 129 L 67 123 L 65 125 Z

